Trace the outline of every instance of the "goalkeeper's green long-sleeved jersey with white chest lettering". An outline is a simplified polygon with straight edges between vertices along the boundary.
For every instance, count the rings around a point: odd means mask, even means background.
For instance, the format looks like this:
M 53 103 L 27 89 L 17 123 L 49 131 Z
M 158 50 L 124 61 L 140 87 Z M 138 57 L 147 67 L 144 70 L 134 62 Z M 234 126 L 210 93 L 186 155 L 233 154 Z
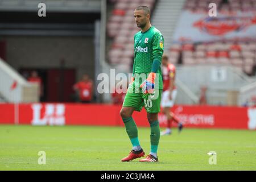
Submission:
M 148 73 L 151 72 L 154 60 L 162 62 L 162 55 L 164 49 L 164 38 L 161 32 L 154 26 L 150 27 L 146 32 L 139 31 L 134 35 L 134 63 L 133 63 L 133 76 L 138 85 L 141 80 L 137 80 L 135 73 Z M 163 89 L 163 78 L 161 68 L 158 68 L 158 80 L 156 88 Z M 143 82 L 144 80 L 142 80 Z M 137 84 L 136 84 L 137 85 Z

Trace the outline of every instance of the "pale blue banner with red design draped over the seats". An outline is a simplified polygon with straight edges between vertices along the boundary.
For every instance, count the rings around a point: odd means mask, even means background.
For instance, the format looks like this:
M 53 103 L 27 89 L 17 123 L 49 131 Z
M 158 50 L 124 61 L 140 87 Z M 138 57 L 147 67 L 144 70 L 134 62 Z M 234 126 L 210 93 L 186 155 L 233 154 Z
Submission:
M 216 17 L 210 17 L 206 13 L 184 10 L 174 34 L 175 42 L 208 42 L 233 38 L 256 38 L 255 12 L 218 12 Z

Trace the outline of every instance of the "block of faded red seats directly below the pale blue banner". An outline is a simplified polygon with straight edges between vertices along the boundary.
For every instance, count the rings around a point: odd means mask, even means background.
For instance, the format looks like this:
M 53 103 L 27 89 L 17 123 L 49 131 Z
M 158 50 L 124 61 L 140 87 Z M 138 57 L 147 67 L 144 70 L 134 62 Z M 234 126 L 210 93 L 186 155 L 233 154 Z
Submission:
M 189 45 L 189 46 L 188 46 Z M 188 47 L 190 50 L 188 50 Z M 216 42 L 204 44 L 173 44 L 168 55 L 172 63 L 177 63 L 179 56 L 184 65 L 191 64 L 231 64 L 250 75 L 256 66 L 256 41 Z

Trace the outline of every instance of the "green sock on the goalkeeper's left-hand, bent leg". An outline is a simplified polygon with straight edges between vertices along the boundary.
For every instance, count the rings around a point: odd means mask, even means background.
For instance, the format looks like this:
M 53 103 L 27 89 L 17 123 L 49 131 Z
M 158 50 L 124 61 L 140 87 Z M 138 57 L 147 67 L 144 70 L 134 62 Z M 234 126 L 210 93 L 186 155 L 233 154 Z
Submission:
M 131 144 L 133 144 L 133 148 L 139 146 L 139 149 L 141 145 L 139 144 L 138 129 L 136 123 L 134 122 L 132 117 L 122 119 L 123 123 L 125 123 L 126 132 L 131 140 Z

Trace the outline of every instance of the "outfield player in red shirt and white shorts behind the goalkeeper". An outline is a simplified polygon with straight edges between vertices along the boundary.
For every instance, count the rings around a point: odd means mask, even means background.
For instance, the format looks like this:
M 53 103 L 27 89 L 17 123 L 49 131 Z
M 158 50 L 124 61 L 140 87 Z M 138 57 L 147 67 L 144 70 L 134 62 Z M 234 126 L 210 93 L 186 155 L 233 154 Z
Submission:
M 161 132 L 161 135 L 170 135 L 172 122 L 176 122 L 179 132 L 182 130 L 183 125 L 179 122 L 179 119 L 174 113 L 170 111 L 174 106 L 175 98 L 177 95 L 177 89 L 175 86 L 176 68 L 174 64 L 168 63 L 168 56 L 162 57 L 162 73 L 163 73 L 163 95 L 161 106 L 163 107 L 163 113 L 167 117 L 167 129 Z

